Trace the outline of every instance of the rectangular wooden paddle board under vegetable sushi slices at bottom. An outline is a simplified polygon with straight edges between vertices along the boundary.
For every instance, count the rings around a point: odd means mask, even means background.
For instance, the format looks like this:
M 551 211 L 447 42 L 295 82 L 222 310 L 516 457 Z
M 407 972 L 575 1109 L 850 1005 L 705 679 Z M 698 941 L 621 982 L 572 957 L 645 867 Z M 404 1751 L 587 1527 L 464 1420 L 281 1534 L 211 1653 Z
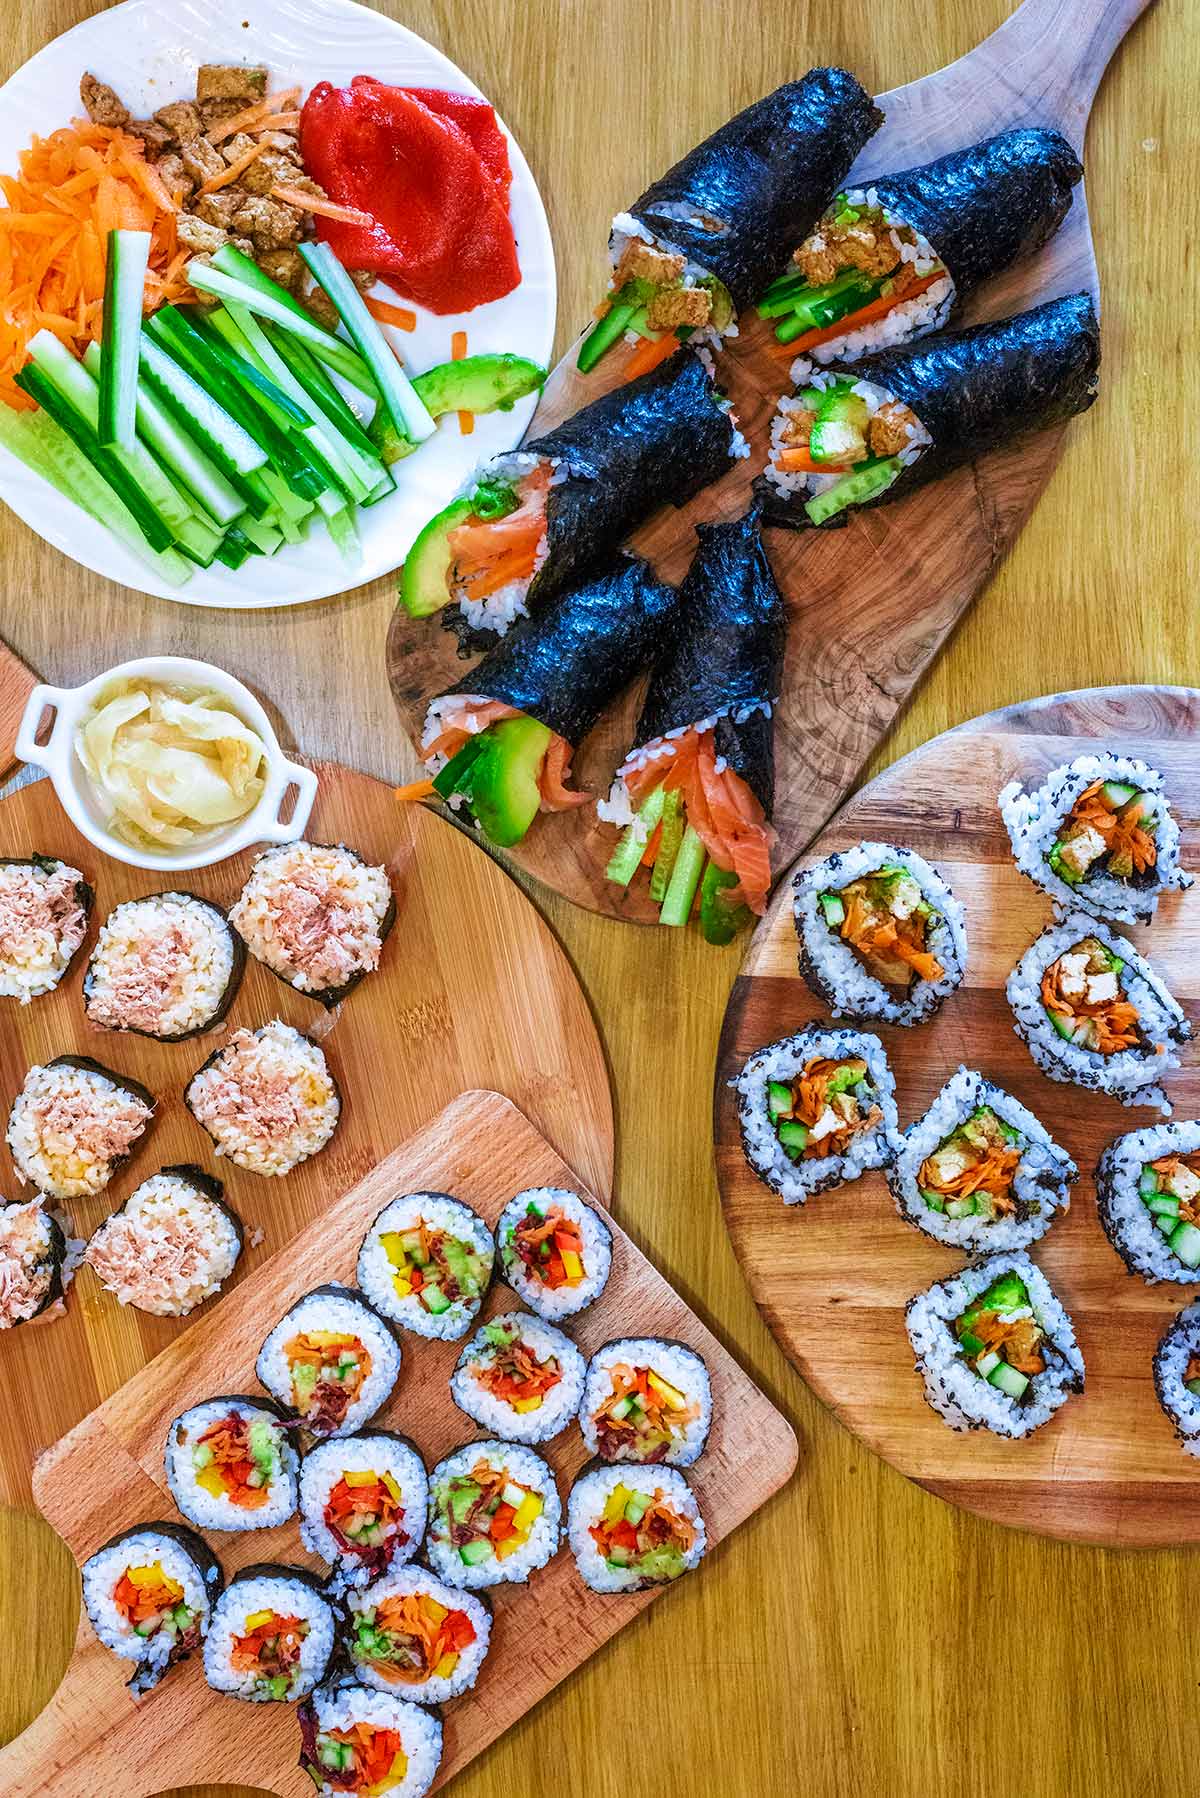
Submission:
M 207 1325 L 173 1343 L 38 1462 L 34 1496 L 77 1561 L 121 1528 L 171 1518 L 162 1449 L 167 1426 L 187 1406 L 216 1392 L 252 1392 L 259 1343 L 279 1316 L 324 1280 L 353 1280 L 358 1244 L 372 1217 L 401 1192 L 444 1190 L 473 1205 L 495 1226 L 522 1187 L 576 1187 L 579 1181 L 551 1144 L 498 1093 L 464 1093 L 410 1142 L 358 1181 L 286 1253 L 210 1313 Z M 590 1194 L 585 1196 L 590 1197 Z M 592 1199 L 596 1203 L 596 1199 Z M 712 1377 L 714 1422 L 709 1446 L 689 1469 L 709 1552 L 788 1478 L 797 1446 L 770 1401 L 739 1370 L 700 1318 L 613 1223 L 613 1266 L 603 1296 L 570 1334 L 585 1354 L 613 1336 L 671 1336 L 703 1356 Z M 486 1313 L 516 1304 L 497 1287 Z M 403 1336 L 398 1388 L 376 1419 L 412 1437 L 426 1465 L 477 1437 L 455 1410 L 448 1381 L 462 1343 L 421 1343 Z M 563 1500 L 585 1462 L 572 1426 L 542 1453 Z M 295 1521 L 245 1535 L 210 1534 L 227 1575 L 252 1561 L 290 1561 L 315 1570 Z M 705 1568 L 693 1577 L 703 1579 Z M 439 1784 L 452 1778 L 657 1593 L 619 1598 L 590 1593 L 569 1550 L 527 1586 L 491 1593 L 491 1651 L 471 1694 L 443 1706 L 446 1728 Z M 279 1798 L 311 1798 L 297 1767 L 295 1712 L 284 1705 L 241 1705 L 218 1697 L 198 1665 L 176 1669 L 137 1706 L 124 1688 L 128 1667 L 94 1638 L 86 1620 L 63 1685 L 50 1705 L 0 1751 L 0 1791 L 148 1798 L 196 1780 L 259 1785 Z M 613 1678 L 617 1669 L 612 1669 Z

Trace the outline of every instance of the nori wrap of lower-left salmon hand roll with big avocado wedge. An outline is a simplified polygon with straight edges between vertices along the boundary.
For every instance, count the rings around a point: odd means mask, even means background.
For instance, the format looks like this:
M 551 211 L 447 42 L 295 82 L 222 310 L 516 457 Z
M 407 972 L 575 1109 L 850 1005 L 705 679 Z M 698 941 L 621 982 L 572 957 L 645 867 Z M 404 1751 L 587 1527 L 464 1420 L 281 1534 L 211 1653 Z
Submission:
M 617 556 L 500 638 L 450 692 L 500 699 L 576 748 L 604 707 L 653 662 L 678 599 L 640 556 Z

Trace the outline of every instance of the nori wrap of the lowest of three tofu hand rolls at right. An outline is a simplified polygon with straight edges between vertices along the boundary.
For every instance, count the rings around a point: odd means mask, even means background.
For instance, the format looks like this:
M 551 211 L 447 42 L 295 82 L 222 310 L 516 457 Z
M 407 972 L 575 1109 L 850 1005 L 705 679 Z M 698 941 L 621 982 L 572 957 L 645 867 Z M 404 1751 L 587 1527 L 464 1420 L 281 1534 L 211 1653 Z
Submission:
M 934 439 L 900 478 L 867 505 L 891 505 L 914 487 L 973 462 L 1027 432 L 1040 432 L 1087 412 L 1097 394 L 1099 320 L 1090 293 L 1069 293 L 1033 311 L 943 331 L 829 374 L 874 381 L 916 412 Z M 759 475 L 754 493 L 768 525 L 811 530 L 806 494 L 781 494 Z M 851 507 L 820 530 L 846 525 Z

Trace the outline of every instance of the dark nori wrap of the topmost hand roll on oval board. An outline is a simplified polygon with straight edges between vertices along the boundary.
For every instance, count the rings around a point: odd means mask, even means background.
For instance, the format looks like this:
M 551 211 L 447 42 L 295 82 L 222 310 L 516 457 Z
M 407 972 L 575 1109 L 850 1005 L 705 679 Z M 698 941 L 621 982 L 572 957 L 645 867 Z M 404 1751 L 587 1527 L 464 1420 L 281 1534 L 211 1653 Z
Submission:
M 630 212 L 716 275 L 743 311 L 810 234 L 882 124 L 880 108 L 844 68 L 810 68 L 707 137 Z M 693 212 L 725 230 L 691 223 Z

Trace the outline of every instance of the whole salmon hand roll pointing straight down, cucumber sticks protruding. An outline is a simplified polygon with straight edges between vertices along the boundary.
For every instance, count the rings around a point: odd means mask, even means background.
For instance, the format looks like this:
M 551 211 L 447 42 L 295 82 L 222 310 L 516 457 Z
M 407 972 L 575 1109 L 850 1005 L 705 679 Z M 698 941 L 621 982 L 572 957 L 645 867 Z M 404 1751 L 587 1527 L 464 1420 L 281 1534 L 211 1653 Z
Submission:
M 660 922 L 685 924 L 700 888 L 703 935 L 723 944 L 766 908 L 788 626 L 757 511 L 696 536 L 633 748 L 597 811 L 624 825 L 608 879 L 628 886 L 653 847 Z

